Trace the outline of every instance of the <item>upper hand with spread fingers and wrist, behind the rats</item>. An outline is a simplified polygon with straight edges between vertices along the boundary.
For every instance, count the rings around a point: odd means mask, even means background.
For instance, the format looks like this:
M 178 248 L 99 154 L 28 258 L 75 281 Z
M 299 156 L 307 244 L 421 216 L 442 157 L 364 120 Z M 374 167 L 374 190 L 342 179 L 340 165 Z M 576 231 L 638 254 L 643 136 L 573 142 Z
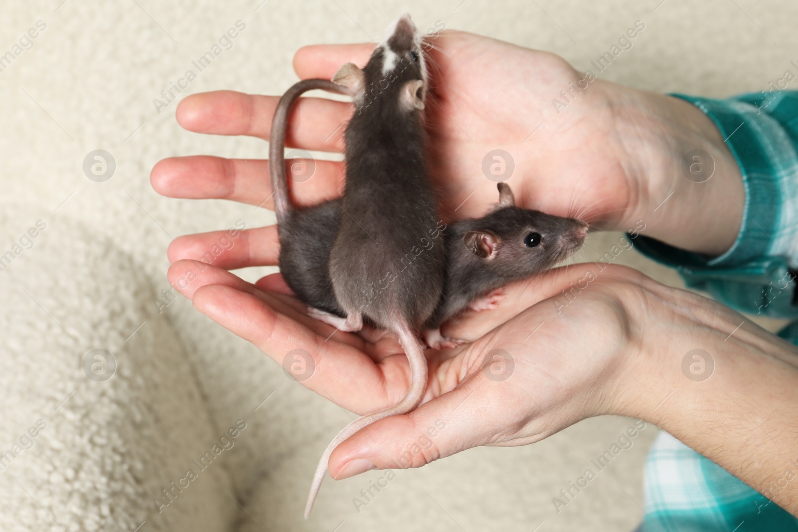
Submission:
M 551 100 L 583 79 L 562 58 L 471 33 L 443 32 L 431 42 L 426 114 L 432 175 L 446 219 L 480 216 L 495 203 L 495 183 L 485 178 L 482 164 L 488 152 L 500 148 L 515 160 L 510 183 L 523 207 L 577 215 L 607 230 L 644 226 L 644 234 L 705 254 L 722 253 L 737 236 L 741 211 L 733 203 L 744 203 L 739 169 L 717 129 L 693 105 L 595 80 L 558 112 Z M 306 46 L 294 57 L 294 69 L 302 78 L 329 79 L 347 61 L 364 64 L 372 49 L 372 44 Z M 267 139 L 278 100 L 200 93 L 182 100 L 176 117 L 195 132 Z M 295 107 L 288 146 L 342 152 L 342 125 L 351 104 L 307 97 Z M 697 148 L 715 160 L 716 175 L 706 183 L 681 175 L 682 156 Z M 312 179 L 292 183 L 299 205 L 342 191 L 342 163 L 315 165 Z M 160 161 L 151 179 L 163 195 L 271 207 L 267 175 L 265 160 L 188 156 Z M 668 207 L 658 209 L 671 192 Z M 199 258 L 203 243 L 217 236 L 178 238 L 169 256 Z M 244 231 L 243 242 L 218 264 L 273 262 L 274 228 Z

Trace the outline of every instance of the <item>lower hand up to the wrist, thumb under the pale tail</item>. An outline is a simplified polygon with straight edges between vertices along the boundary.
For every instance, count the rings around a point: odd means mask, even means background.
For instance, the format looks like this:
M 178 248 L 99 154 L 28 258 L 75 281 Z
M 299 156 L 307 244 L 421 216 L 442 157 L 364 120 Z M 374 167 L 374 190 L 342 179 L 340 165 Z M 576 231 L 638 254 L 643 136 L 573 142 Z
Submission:
M 569 271 L 579 268 L 571 266 Z M 187 275 L 189 271 L 194 274 Z M 616 301 L 617 286 L 643 276 L 611 269 L 597 282 L 600 288 L 584 294 L 579 305 L 569 305 L 562 315 L 557 305 L 539 303 L 527 309 L 568 286 L 571 279 L 561 273 L 555 270 L 539 282 L 516 283 L 508 287 L 500 309 L 466 314 L 456 330 L 452 325 L 447 331 L 452 336 L 478 339 L 463 349 L 428 350 L 424 403 L 407 416 L 382 420 L 343 443 L 330 460 L 334 478 L 361 472 L 357 467 L 362 462 L 345 465 L 353 453 L 362 456 L 365 451 L 379 467 L 417 467 L 469 447 L 531 443 L 585 417 L 614 412 L 614 390 L 622 388 L 619 378 L 630 354 L 627 346 L 635 343 L 626 330 L 631 318 Z M 187 277 L 194 281 L 181 282 Z M 169 279 L 200 312 L 251 341 L 278 364 L 301 349 L 305 366 L 315 369 L 298 380 L 344 408 L 365 414 L 405 395 L 409 365 L 392 335 L 342 333 L 307 317 L 279 274 L 253 286 L 215 266 L 178 261 L 170 267 Z M 392 465 L 397 459 L 392 452 L 423 435 L 437 420 L 445 429 L 435 439 L 434 451 Z M 375 445 L 383 452 L 379 457 L 369 455 Z

